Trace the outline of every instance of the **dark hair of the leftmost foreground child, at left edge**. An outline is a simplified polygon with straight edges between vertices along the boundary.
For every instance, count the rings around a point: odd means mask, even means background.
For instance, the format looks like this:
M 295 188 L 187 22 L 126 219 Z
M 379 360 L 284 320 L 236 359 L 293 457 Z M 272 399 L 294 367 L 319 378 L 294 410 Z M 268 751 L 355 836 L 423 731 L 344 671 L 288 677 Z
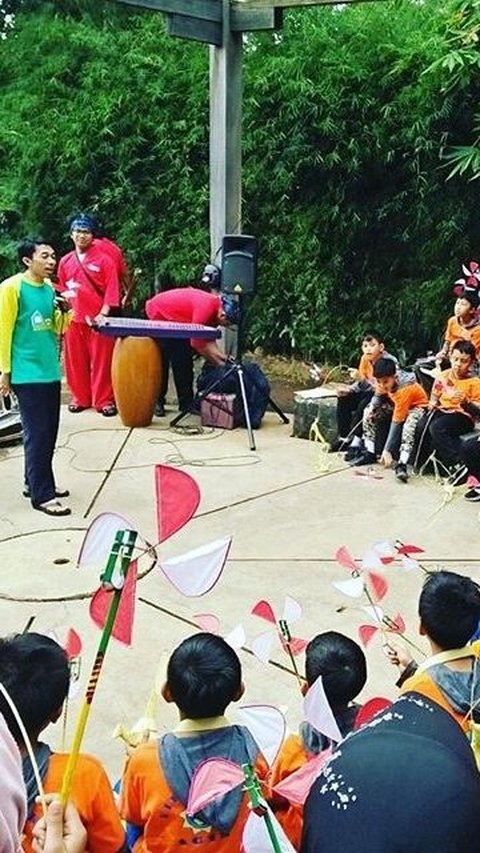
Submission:
M 0 681 L 12 697 L 31 738 L 36 738 L 62 707 L 70 682 L 67 653 L 43 634 L 0 639 Z M 17 741 L 23 738 L 3 694 L 0 713 Z

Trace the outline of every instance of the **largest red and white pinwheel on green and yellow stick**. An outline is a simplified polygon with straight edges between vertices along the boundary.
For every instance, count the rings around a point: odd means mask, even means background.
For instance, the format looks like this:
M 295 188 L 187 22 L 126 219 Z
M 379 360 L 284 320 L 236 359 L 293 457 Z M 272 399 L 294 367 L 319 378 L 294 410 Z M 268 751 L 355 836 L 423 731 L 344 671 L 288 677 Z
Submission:
M 155 468 L 158 543 L 180 530 L 195 513 L 200 490 L 195 480 L 183 471 L 158 465 Z M 137 542 L 140 547 L 137 549 Z M 113 543 L 113 544 L 112 544 Z M 186 596 L 200 596 L 217 583 L 231 545 L 231 538 L 159 562 L 161 571 L 175 588 Z M 100 575 L 101 586 L 90 603 L 90 615 L 102 629 L 99 647 L 91 671 L 82 709 L 63 779 L 61 799 L 68 799 L 83 735 L 111 637 L 121 643 L 132 642 L 136 603 L 138 560 L 154 557 L 156 546 L 142 541 L 138 531 L 118 513 L 102 513 L 90 525 L 78 559 L 79 567 L 106 566 Z M 153 566 L 152 566 L 153 567 Z

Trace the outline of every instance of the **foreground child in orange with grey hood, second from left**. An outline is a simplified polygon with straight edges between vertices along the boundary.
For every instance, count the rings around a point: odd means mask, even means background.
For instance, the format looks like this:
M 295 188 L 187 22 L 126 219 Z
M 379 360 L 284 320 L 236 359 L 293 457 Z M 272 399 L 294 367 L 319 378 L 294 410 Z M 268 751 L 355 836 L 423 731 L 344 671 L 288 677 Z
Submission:
M 173 652 L 162 688 L 179 712 L 177 728 L 142 744 L 127 761 L 120 811 L 135 853 L 171 853 L 198 846 L 219 853 L 241 850 L 249 809 L 240 787 L 186 816 L 190 783 L 199 764 L 223 758 L 252 764 L 260 778 L 267 765 L 249 731 L 224 716 L 243 695 L 237 654 L 221 637 L 199 633 Z

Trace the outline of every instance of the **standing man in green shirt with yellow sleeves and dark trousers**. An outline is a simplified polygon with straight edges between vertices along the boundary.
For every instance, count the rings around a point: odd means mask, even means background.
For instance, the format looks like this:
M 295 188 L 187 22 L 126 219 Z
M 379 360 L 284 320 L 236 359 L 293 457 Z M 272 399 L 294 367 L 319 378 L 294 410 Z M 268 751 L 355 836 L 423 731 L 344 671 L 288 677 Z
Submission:
M 0 285 L 0 395 L 13 388 L 22 418 L 25 490 L 34 509 L 69 515 L 55 486 L 53 454 L 60 419 L 58 335 L 70 322 L 68 303 L 56 297 L 49 277 L 55 251 L 41 237 L 18 247 L 23 273 Z

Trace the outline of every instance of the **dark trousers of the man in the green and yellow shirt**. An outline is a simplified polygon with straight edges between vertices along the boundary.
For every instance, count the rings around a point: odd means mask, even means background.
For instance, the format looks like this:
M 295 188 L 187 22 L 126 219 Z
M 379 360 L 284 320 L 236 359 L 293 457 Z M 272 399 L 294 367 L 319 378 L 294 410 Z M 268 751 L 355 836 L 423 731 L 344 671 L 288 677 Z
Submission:
M 25 485 L 32 504 L 55 497 L 53 454 L 60 421 L 60 382 L 14 385 L 23 427 Z

